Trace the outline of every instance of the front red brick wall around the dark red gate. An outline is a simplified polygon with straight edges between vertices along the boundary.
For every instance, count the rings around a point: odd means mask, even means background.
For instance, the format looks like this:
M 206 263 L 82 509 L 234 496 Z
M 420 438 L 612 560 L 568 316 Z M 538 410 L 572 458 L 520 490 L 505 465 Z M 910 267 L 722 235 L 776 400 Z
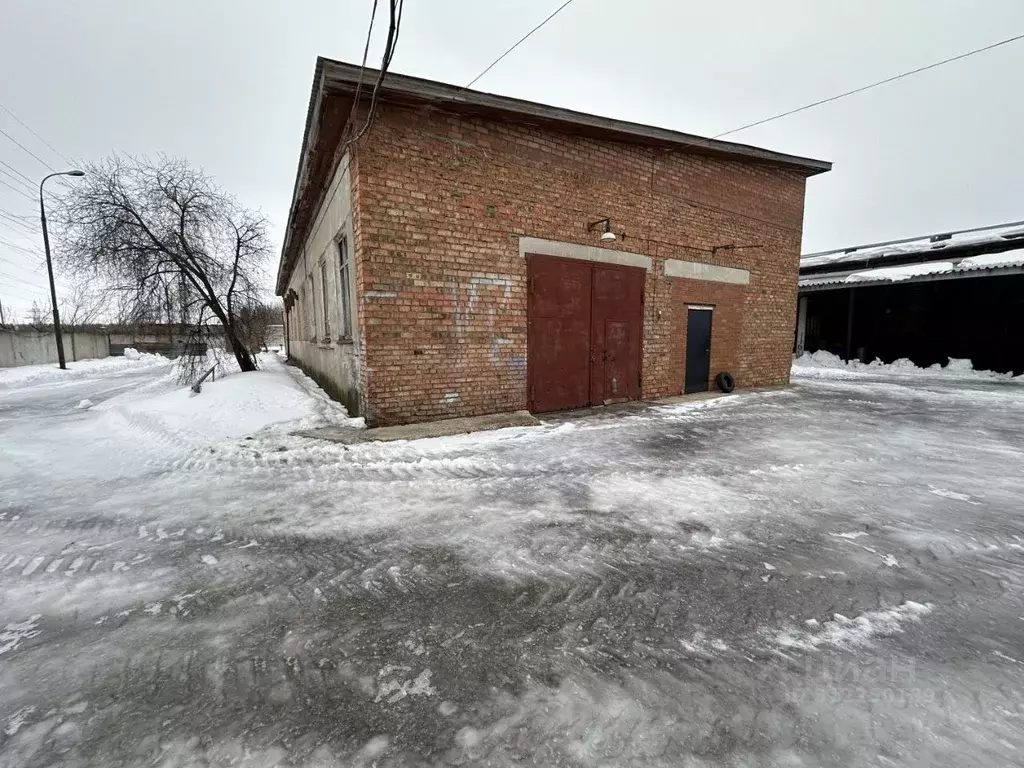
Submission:
M 355 247 L 368 419 L 526 406 L 519 236 L 653 258 L 645 397 L 682 391 L 686 301 L 715 304 L 713 375 L 788 381 L 804 178 L 765 165 L 386 106 L 356 151 Z M 625 238 L 599 243 L 610 217 Z M 708 251 L 721 245 L 759 248 Z M 748 269 L 749 286 L 670 279 L 667 258 Z

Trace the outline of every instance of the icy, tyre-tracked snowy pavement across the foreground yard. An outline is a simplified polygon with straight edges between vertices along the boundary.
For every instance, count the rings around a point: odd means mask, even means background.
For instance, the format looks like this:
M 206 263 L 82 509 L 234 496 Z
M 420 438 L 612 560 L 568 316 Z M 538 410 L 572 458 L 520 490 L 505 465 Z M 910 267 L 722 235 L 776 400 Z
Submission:
M 124 377 L 0 393 L 0 765 L 1024 760 L 1018 383 L 344 446 Z

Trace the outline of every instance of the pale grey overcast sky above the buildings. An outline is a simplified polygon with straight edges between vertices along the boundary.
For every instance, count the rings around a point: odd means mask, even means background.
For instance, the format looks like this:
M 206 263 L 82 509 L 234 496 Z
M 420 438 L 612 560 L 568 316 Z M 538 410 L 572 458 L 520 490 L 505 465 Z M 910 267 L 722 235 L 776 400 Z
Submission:
M 391 69 L 464 85 L 560 4 L 408 0 Z M 280 246 L 315 57 L 357 62 L 371 5 L 2 0 L 0 104 L 73 160 L 186 157 Z M 713 135 L 1020 33 L 1020 0 L 574 0 L 474 87 Z M 1022 76 L 1024 41 L 730 139 L 836 164 L 808 184 L 805 252 L 1015 221 Z M 2 110 L 0 129 L 63 163 Z M 45 171 L 3 135 L 0 161 Z M 0 182 L 0 301 L 24 312 L 45 270 L 10 244 L 41 250 L 38 204 Z

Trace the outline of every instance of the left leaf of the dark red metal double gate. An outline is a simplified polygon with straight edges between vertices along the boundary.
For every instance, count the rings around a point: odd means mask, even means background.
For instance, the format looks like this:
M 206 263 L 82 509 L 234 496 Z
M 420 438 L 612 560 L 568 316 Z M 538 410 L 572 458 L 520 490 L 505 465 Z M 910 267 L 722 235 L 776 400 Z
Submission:
M 590 401 L 592 268 L 551 256 L 527 258 L 527 399 L 534 413 Z

